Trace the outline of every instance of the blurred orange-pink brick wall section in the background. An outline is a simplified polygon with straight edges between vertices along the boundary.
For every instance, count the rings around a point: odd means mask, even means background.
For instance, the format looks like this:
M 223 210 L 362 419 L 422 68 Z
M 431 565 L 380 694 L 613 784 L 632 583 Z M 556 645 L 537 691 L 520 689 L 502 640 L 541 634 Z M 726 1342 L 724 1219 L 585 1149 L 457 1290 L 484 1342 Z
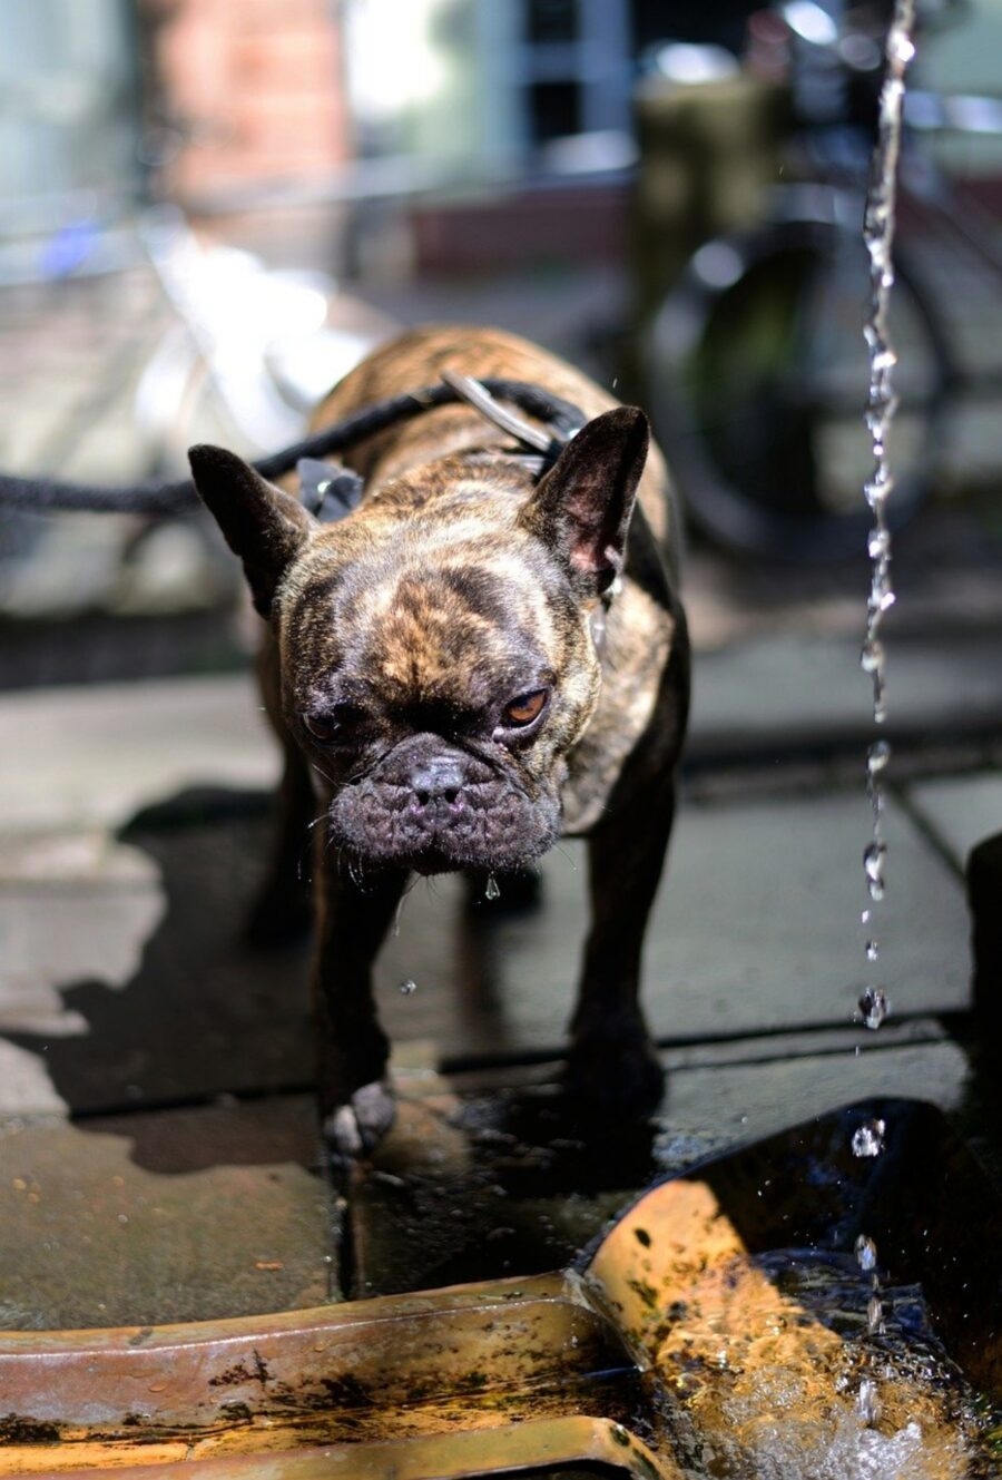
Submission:
M 346 158 L 330 0 L 148 0 L 148 13 L 163 104 L 186 136 L 170 194 L 317 176 Z

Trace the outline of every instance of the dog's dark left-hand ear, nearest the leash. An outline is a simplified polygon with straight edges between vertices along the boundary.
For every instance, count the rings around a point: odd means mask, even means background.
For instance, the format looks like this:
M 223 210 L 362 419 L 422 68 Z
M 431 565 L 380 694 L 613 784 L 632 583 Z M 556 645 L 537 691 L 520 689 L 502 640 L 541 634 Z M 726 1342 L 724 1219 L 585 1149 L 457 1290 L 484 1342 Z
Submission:
M 266 617 L 275 588 L 317 521 L 299 499 L 262 478 L 250 463 L 222 447 L 192 447 L 191 477 L 226 545 L 240 555 L 255 598 Z

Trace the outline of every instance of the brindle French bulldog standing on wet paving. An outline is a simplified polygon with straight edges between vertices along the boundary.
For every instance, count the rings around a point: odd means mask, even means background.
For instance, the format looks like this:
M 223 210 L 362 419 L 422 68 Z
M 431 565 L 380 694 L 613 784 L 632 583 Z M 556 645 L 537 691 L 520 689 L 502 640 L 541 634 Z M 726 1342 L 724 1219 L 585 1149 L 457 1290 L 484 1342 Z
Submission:
M 371 963 L 408 875 L 515 870 L 559 835 L 588 836 L 592 906 L 570 1086 L 608 1113 L 662 1095 L 638 981 L 688 703 L 665 465 L 641 411 L 497 330 L 403 334 L 315 425 L 447 369 L 533 382 L 591 420 L 540 478 L 478 411 L 428 410 L 345 456 L 364 496 L 333 525 L 234 454 L 191 454 L 268 620 L 260 672 L 286 773 L 259 921 L 275 931 L 299 907 L 323 807 L 320 1100 L 343 1156 L 392 1122 Z

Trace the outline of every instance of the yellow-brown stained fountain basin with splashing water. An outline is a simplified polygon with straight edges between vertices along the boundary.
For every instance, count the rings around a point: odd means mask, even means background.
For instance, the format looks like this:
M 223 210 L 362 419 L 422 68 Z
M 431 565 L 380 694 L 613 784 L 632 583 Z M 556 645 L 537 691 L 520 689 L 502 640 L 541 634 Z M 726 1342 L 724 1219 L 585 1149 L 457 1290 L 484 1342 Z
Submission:
M 875 1117 L 884 1153 L 854 1157 L 854 1129 Z M 826 1314 L 814 1299 L 816 1265 L 845 1285 L 860 1233 L 885 1291 L 921 1286 L 929 1329 L 912 1368 L 864 1336 L 851 1301 Z M 875 1434 L 870 1447 L 884 1440 L 887 1464 L 919 1480 L 977 1474 L 961 1467 L 987 1464 L 992 1440 L 971 1396 L 1002 1400 L 1001 1246 L 998 1194 L 938 1110 L 850 1106 L 656 1184 L 561 1273 L 158 1329 L 3 1333 L 0 1473 L 184 1462 L 191 1476 L 197 1462 L 223 1480 L 336 1461 L 352 1480 L 568 1464 L 673 1480 L 679 1455 L 761 1473 L 756 1453 L 793 1434 L 801 1449 L 770 1473 L 807 1480 L 827 1424 L 850 1446 Z M 863 1416 L 870 1375 L 879 1413 Z

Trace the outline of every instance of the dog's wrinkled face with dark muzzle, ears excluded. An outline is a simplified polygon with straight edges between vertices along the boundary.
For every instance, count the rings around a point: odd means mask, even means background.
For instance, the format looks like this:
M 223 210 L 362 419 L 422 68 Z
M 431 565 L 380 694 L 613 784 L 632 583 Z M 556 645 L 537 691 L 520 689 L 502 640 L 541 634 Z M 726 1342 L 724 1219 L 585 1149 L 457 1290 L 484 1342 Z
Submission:
M 334 842 L 423 873 L 509 869 L 554 842 L 598 694 L 555 562 L 528 534 L 463 522 L 388 528 L 354 559 L 334 531 L 280 599 L 286 715 L 333 787 Z

